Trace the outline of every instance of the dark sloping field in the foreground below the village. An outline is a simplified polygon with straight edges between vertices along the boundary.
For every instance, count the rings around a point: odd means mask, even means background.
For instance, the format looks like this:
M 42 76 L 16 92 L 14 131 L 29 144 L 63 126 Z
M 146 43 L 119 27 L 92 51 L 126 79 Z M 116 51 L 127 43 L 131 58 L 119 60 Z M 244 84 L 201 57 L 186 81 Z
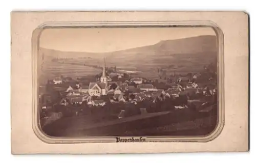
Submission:
M 53 137 L 135 136 L 135 135 L 206 135 L 217 123 L 217 108 L 209 113 L 175 111 L 152 113 L 98 122 L 92 116 L 61 118 L 44 128 Z M 156 115 L 158 114 L 158 116 Z M 95 119 L 95 118 L 94 118 Z M 100 119 L 100 118 L 99 118 Z M 131 120 L 130 120 L 131 119 Z M 152 123 L 154 122 L 154 123 Z M 57 128 L 57 129 L 56 129 Z M 117 130 L 118 128 L 118 130 Z

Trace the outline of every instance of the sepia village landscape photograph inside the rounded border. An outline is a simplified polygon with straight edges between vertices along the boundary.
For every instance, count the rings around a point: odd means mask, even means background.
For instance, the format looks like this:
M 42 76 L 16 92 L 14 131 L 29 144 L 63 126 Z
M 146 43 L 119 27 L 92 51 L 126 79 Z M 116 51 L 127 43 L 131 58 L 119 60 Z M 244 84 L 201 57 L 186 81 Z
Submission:
M 218 124 L 210 27 L 47 28 L 38 51 L 50 137 L 204 137 Z

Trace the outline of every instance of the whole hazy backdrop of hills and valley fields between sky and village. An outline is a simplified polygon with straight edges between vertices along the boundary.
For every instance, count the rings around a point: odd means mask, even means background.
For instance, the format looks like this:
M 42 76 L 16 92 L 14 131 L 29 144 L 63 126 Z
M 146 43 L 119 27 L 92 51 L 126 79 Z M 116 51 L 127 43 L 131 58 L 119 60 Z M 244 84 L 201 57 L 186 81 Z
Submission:
M 86 66 L 116 66 L 117 70 L 141 71 L 134 77 L 157 79 L 159 69 L 166 75 L 198 73 L 217 59 L 215 36 L 166 40 L 158 44 L 107 53 L 67 52 L 40 49 L 40 81 L 57 76 L 96 75 L 100 69 Z M 182 45 L 177 47 L 178 45 Z M 56 59 L 57 62 L 53 62 Z M 86 64 L 84 66 L 84 64 Z

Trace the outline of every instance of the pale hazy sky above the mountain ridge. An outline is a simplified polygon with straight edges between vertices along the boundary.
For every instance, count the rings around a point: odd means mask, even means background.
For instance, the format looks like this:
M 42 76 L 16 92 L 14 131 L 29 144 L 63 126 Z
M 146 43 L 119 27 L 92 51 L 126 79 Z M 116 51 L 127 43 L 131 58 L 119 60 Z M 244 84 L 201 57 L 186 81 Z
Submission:
M 61 51 L 111 52 L 200 35 L 216 35 L 211 28 L 45 29 L 40 47 Z

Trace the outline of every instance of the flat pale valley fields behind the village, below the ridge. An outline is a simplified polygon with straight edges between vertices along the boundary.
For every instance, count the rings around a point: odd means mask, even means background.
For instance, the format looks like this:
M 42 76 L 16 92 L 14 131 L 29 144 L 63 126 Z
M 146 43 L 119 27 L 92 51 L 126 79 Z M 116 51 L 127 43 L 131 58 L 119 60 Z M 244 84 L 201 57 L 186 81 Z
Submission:
M 203 66 L 209 64 L 214 55 L 202 58 L 203 55 L 172 55 L 172 56 L 158 56 L 154 58 L 145 57 L 144 62 L 136 61 L 129 58 L 111 58 L 106 60 L 106 66 L 116 66 L 117 70 L 140 71 L 134 73 L 133 77 L 146 77 L 149 79 L 157 79 L 158 68 L 164 69 L 167 75 L 173 75 L 174 72 L 178 74 L 198 73 L 202 71 Z M 108 62 L 110 61 L 110 62 Z M 101 69 L 84 66 L 82 64 L 90 63 L 91 65 L 101 66 L 100 59 L 68 59 L 63 62 L 48 61 L 41 66 L 40 79 L 52 79 L 60 75 L 77 78 L 84 75 L 96 75 L 102 72 Z

